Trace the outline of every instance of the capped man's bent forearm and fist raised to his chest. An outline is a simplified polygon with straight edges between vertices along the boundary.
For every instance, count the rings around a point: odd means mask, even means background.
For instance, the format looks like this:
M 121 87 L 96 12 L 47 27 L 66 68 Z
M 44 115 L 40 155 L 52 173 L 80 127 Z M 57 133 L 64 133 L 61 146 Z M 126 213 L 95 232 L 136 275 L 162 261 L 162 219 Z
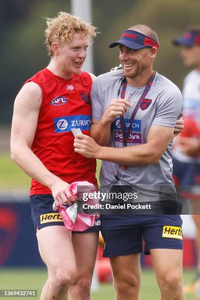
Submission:
M 117 116 L 122 116 L 131 107 L 128 99 L 112 99 L 100 121 L 92 119 L 91 137 L 101 146 L 110 143 L 110 126 Z

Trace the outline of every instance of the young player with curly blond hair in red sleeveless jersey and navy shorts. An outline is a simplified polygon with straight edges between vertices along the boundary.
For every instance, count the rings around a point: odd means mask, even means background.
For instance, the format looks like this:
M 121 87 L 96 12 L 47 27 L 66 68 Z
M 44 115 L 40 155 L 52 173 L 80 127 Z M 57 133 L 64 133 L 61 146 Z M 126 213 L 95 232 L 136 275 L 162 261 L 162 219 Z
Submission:
M 81 68 L 96 31 L 65 12 L 48 18 L 45 43 L 50 63 L 26 80 L 14 104 L 11 157 L 32 178 L 32 220 L 48 268 L 42 300 L 67 299 L 72 285 L 72 300 L 90 299 L 99 223 L 84 234 L 71 234 L 52 204 L 75 202 L 68 189 L 72 182 L 97 184 L 96 161 L 75 153 L 71 131 L 72 125 L 82 124 L 89 135 L 94 75 Z

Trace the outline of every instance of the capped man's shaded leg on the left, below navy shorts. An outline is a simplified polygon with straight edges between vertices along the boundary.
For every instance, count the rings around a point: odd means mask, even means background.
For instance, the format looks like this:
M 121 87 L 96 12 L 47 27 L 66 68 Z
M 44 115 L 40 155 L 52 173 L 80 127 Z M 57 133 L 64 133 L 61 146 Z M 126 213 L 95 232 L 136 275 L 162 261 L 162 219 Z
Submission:
M 140 254 L 110 258 L 117 300 L 139 300 Z

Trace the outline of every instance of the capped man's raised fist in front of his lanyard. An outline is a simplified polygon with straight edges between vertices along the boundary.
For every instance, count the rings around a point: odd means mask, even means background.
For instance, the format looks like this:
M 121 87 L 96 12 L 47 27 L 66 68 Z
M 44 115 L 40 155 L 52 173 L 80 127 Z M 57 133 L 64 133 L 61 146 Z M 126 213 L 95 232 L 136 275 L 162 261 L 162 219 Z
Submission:
M 122 116 L 131 104 L 128 99 L 112 99 L 106 108 L 102 119 L 105 123 L 112 123 L 117 116 Z

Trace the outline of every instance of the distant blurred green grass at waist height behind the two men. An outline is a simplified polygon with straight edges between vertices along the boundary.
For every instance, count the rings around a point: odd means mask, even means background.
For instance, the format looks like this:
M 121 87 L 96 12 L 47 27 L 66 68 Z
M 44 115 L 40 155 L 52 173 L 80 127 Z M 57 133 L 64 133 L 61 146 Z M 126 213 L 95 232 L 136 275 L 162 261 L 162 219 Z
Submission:
M 100 172 L 100 160 L 97 162 L 97 178 Z M 0 152 L 0 189 L 29 189 L 30 177 L 10 159 L 10 153 Z

